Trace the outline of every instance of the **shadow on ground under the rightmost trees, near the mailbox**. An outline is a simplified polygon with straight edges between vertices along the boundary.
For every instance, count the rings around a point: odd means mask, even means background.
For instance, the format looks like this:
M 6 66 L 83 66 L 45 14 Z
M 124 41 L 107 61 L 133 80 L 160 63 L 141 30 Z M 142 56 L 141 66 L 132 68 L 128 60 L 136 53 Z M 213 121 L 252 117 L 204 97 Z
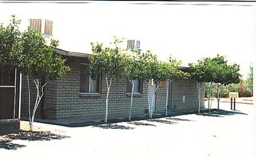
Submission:
M 225 111 L 225 110 L 212 111 L 212 112 L 196 114 L 196 115 L 207 116 L 207 117 L 224 117 L 224 116 L 232 116 L 237 114 L 248 115 L 239 111 Z

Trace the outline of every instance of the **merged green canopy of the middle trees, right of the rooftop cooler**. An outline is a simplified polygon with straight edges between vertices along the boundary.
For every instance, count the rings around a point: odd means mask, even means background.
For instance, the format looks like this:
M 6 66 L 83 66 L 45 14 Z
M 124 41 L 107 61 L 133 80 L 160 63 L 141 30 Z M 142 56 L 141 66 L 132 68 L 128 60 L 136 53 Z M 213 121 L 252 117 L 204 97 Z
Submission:
M 150 51 L 141 53 L 141 50 L 128 51 L 125 66 L 125 76 L 130 79 L 154 79 L 154 82 L 188 79 L 190 74 L 179 69 L 181 61 L 171 59 L 170 62 L 161 62 Z

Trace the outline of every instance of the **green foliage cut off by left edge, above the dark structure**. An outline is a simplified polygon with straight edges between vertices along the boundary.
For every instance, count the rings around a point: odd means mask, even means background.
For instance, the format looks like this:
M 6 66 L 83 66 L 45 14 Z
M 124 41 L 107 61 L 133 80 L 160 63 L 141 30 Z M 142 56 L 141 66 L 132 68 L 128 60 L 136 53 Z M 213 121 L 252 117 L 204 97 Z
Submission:
M 11 16 L 10 24 L 5 27 L 0 24 L 0 68 L 14 69 L 18 65 L 17 53 L 21 51 L 19 37 L 21 32 L 18 30 L 18 24 L 21 21 L 15 19 L 15 15 Z

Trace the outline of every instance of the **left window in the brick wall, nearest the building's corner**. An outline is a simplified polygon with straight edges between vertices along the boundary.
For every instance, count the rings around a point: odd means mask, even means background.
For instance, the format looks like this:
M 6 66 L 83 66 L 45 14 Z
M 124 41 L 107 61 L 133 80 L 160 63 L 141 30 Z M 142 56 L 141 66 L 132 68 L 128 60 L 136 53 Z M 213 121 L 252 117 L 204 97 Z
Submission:
M 81 64 L 80 69 L 80 93 L 99 93 L 100 75 L 92 78 L 89 75 L 89 64 Z

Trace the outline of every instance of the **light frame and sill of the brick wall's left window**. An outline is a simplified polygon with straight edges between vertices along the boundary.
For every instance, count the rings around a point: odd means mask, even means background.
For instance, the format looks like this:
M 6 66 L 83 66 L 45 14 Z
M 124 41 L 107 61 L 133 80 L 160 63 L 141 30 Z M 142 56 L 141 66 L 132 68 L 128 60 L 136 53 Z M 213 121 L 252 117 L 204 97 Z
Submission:
M 82 65 L 87 65 L 87 66 L 89 66 L 89 63 L 84 63 L 84 62 L 82 62 L 82 63 L 80 63 L 80 80 L 79 80 L 79 95 L 81 95 L 81 96 L 86 96 L 86 95 L 101 95 L 102 94 L 102 75 L 101 75 L 101 72 L 99 72 L 99 91 L 98 92 L 96 92 L 96 93 L 91 93 L 90 92 L 90 79 L 91 79 L 91 75 L 89 75 L 89 81 L 88 81 L 88 83 L 89 83 L 89 92 L 86 92 L 86 91 L 81 91 L 81 66 Z M 98 82 L 98 79 L 97 79 L 97 82 Z M 98 86 L 98 85 L 97 85 Z

